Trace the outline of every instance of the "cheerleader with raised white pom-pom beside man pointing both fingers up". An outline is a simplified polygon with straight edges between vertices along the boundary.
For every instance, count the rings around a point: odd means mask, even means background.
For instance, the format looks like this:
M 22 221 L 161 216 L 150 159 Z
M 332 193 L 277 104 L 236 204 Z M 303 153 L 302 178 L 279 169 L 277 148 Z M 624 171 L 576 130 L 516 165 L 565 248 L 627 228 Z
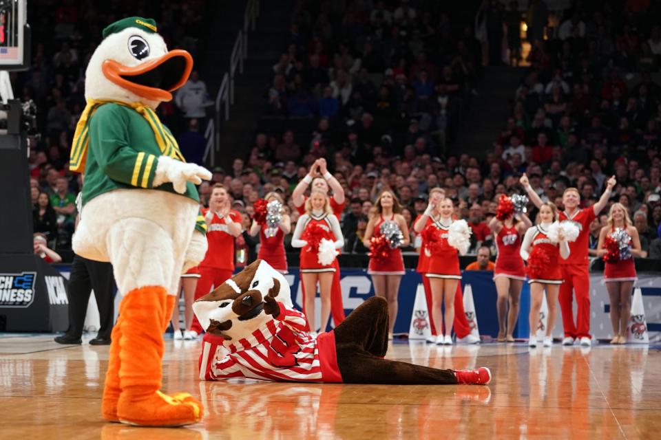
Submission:
M 569 257 L 569 245 L 560 232 L 559 243 L 549 239 L 549 228 L 554 221 L 558 221 L 558 208 L 547 201 L 539 207 L 540 223 L 529 228 L 523 236 L 521 243 L 521 258 L 528 262 L 530 279 L 530 325 L 529 347 L 537 347 L 536 329 L 539 322 L 539 309 L 542 307 L 544 289 L 549 306 L 549 316 L 544 337 L 544 347 L 551 347 L 553 338 L 551 333 L 556 322 L 558 312 L 558 290 L 563 283 L 560 272 L 558 254 L 563 259 Z M 555 226 L 555 225 L 554 225 Z

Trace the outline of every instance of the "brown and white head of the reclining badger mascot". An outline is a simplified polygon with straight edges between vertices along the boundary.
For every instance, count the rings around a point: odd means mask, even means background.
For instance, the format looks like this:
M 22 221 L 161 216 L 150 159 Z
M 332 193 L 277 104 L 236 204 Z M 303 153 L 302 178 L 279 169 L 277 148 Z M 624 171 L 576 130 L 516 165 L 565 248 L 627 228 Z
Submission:
M 271 296 L 292 307 L 289 285 L 280 272 L 257 260 L 193 303 L 202 328 L 225 340 L 236 341 L 261 329 L 273 316 L 264 313 L 264 298 Z

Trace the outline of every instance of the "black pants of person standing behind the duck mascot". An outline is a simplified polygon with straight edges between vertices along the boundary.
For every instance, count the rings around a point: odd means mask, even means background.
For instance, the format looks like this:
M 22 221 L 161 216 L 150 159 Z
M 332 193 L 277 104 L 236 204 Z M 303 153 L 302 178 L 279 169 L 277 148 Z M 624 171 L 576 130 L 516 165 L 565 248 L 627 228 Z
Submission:
M 114 318 L 112 265 L 75 255 L 69 276 L 69 329 L 67 335 L 80 338 L 87 313 L 87 303 L 94 289 L 101 327 L 98 338 L 110 339 Z

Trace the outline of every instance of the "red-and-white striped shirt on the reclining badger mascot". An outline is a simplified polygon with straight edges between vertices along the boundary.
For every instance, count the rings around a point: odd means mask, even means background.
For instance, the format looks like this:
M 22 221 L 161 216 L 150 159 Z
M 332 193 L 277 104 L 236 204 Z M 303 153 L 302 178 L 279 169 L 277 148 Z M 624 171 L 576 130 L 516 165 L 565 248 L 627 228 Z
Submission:
M 304 314 L 282 303 L 278 305 L 280 315 L 253 331 L 249 338 L 233 342 L 209 333 L 204 335 L 200 379 L 342 382 L 333 332 L 315 339 L 305 332 Z

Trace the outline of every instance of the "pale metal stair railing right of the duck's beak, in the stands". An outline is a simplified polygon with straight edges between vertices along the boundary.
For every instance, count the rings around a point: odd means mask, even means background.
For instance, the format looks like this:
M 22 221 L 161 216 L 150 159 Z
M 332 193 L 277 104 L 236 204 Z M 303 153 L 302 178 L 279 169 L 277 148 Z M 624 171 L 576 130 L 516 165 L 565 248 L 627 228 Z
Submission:
M 220 89 L 218 89 L 216 95 L 215 112 L 204 131 L 204 137 L 207 139 L 204 161 L 206 162 L 207 156 L 209 156 L 209 162 L 212 166 L 216 164 L 216 151 L 220 148 L 218 143 L 220 142 L 221 121 L 229 120 L 229 108 L 231 104 L 234 104 L 235 77 L 237 74 L 243 73 L 243 63 L 248 57 L 248 34 L 249 31 L 255 30 L 258 17 L 260 17 L 260 1 L 248 0 L 243 14 L 243 26 L 236 36 L 229 57 L 229 72 L 222 76 Z M 221 110 L 224 114 L 221 114 Z

